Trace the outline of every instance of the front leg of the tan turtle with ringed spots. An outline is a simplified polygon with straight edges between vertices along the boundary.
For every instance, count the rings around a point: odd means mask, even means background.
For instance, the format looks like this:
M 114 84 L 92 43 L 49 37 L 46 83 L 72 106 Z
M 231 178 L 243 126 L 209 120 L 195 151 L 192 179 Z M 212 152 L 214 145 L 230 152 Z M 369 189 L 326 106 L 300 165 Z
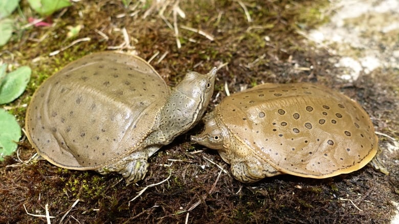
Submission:
M 247 157 L 244 161 L 232 162 L 230 169 L 233 177 L 243 183 L 254 183 L 265 177 L 281 174 L 269 163 L 254 156 Z

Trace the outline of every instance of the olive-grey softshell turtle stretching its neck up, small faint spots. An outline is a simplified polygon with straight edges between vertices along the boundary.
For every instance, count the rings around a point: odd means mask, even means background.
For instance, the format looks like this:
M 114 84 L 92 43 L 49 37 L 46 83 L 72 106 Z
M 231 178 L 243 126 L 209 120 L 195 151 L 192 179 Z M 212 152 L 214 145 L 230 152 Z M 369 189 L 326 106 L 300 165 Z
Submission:
M 35 92 L 26 131 L 37 153 L 77 170 L 142 180 L 147 159 L 201 119 L 216 68 L 188 72 L 169 90 L 146 61 L 101 52 L 65 66 Z

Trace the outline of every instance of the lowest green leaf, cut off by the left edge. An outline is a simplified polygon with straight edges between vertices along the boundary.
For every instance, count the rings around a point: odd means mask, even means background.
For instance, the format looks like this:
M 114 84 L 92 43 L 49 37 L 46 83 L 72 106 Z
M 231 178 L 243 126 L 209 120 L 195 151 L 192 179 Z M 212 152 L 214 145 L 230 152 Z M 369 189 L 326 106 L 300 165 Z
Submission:
M 21 128 L 15 117 L 7 111 L 0 109 L 0 161 L 4 156 L 11 155 L 17 148 L 21 137 Z

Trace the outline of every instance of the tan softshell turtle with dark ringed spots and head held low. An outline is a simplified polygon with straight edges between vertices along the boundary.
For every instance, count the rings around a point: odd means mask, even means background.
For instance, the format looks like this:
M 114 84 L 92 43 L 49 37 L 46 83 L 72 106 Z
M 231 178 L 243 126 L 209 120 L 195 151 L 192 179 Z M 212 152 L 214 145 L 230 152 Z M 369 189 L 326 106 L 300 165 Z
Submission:
M 333 177 L 362 168 L 378 149 L 362 107 L 316 84 L 258 85 L 224 98 L 205 120 L 191 140 L 218 150 L 246 183 L 282 173 Z

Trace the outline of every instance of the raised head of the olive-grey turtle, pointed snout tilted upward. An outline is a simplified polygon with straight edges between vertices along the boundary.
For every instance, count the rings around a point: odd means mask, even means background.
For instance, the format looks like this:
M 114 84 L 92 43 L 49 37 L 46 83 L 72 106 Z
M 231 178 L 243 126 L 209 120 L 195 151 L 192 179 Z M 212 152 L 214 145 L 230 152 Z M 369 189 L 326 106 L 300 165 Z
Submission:
M 207 108 L 213 94 L 215 84 L 216 67 L 207 74 L 190 71 L 184 79 L 175 87 L 179 92 L 192 99 L 192 106 L 196 105 L 197 119 L 200 119 Z

